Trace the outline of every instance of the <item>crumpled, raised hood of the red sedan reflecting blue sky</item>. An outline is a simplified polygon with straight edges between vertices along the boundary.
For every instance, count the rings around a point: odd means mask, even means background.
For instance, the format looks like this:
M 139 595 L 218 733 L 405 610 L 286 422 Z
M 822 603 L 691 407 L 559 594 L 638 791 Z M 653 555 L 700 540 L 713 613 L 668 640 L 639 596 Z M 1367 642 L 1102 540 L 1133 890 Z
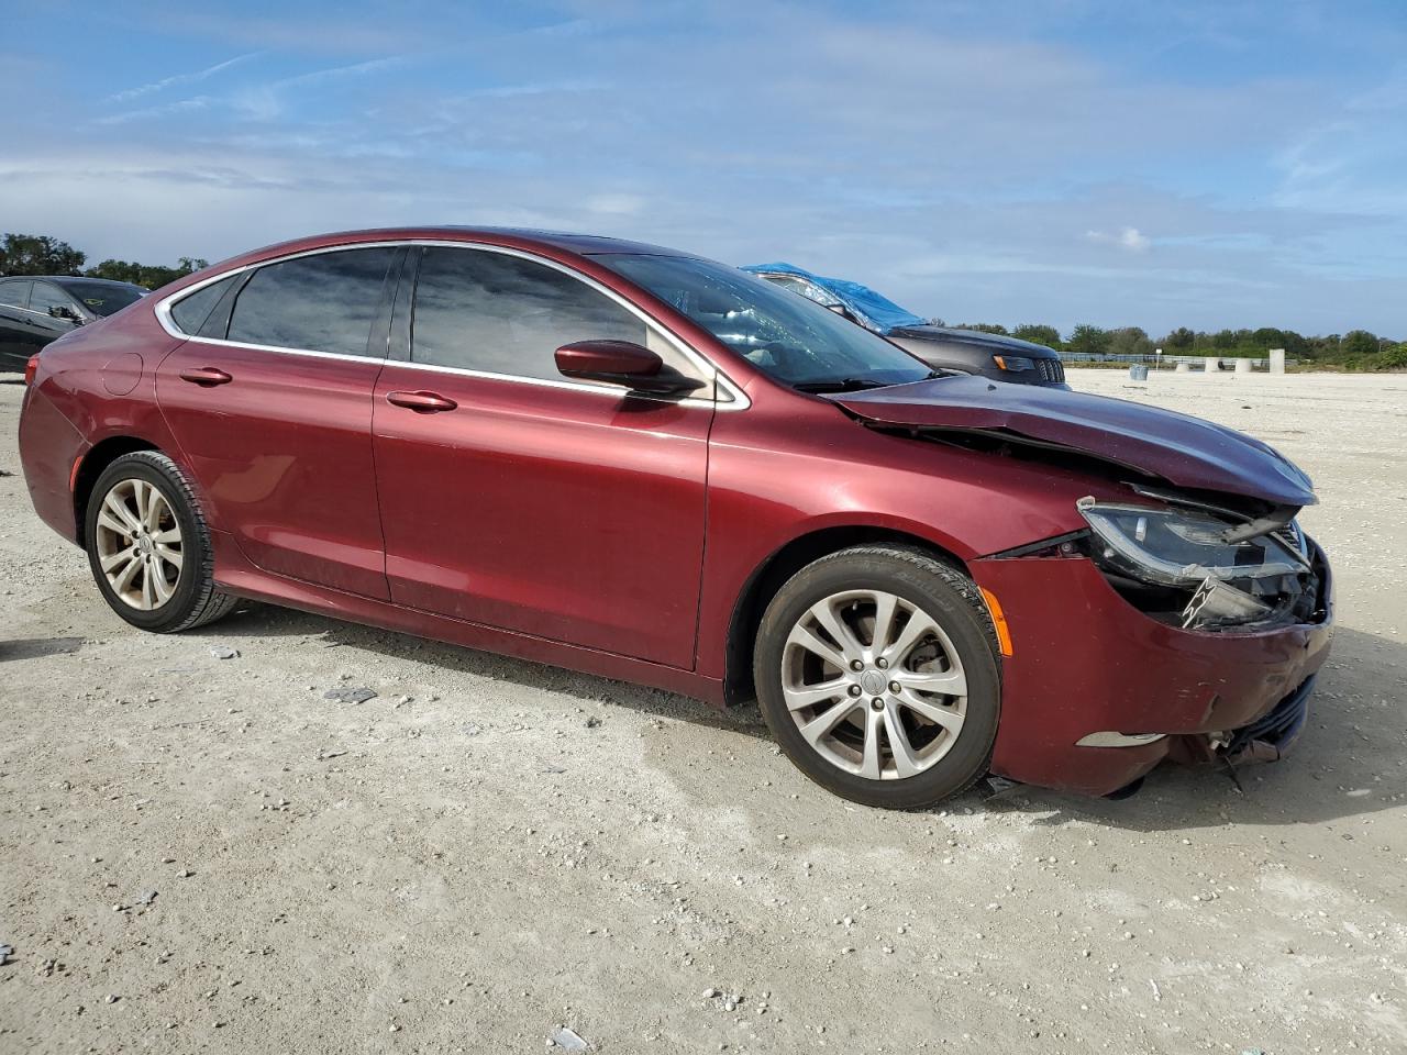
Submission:
M 1221 491 L 1273 505 L 1314 505 L 1314 485 L 1289 459 L 1245 433 L 1155 407 L 983 377 L 826 397 L 874 425 L 978 432 L 1068 447 L 1178 487 Z

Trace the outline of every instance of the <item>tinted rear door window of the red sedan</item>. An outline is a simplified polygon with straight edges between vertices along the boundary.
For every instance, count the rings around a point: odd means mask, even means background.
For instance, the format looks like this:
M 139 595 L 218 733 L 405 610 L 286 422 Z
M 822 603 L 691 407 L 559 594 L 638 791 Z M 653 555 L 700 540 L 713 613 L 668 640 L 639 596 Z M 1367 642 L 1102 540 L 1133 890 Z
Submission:
M 367 354 L 394 246 L 343 249 L 269 264 L 239 291 L 229 339 L 310 352 Z

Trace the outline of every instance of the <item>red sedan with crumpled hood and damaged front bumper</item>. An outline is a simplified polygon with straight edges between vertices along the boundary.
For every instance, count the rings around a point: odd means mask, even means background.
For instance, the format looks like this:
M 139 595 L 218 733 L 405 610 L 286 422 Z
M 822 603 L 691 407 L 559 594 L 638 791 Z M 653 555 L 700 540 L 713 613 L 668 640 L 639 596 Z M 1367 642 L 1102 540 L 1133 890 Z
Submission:
M 754 696 L 809 776 L 924 806 L 1279 757 L 1331 637 L 1306 475 L 1135 404 L 936 376 L 608 238 L 308 238 L 30 362 L 39 515 L 159 633 L 253 598 Z

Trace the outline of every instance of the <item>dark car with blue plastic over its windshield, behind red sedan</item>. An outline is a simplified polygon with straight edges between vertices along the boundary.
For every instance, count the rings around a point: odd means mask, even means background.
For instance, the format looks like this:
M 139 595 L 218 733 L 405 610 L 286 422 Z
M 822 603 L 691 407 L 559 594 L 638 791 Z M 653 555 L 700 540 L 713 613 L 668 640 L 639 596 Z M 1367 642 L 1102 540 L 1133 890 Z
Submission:
M 743 270 L 844 315 L 938 370 L 1047 388 L 1069 387 L 1059 354 L 1045 345 L 978 329 L 933 326 L 868 286 L 825 279 L 789 263 L 750 264 Z

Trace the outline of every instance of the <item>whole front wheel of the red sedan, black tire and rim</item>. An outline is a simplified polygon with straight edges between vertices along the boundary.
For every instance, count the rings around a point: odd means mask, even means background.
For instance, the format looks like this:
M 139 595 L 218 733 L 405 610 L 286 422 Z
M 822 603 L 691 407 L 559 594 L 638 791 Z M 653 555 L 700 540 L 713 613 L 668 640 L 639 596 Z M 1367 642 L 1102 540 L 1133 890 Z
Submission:
M 922 809 L 986 772 L 998 654 L 972 580 L 917 549 L 858 546 L 777 592 L 753 675 L 767 726 L 806 776 L 865 806 Z

